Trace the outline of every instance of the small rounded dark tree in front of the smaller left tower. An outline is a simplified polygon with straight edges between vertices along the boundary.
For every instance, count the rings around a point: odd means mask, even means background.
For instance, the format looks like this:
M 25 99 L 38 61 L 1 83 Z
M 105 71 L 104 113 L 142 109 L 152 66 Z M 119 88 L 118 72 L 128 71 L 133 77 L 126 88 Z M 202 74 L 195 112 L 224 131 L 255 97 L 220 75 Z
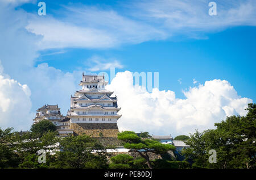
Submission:
M 43 136 L 44 132 L 48 131 L 56 131 L 56 125 L 54 125 L 52 122 L 49 122 L 48 120 L 42 120 L 38 123 L 35 123 L 31 126 L 30 131 L 34 133 L 38 133 L 39 136 Z

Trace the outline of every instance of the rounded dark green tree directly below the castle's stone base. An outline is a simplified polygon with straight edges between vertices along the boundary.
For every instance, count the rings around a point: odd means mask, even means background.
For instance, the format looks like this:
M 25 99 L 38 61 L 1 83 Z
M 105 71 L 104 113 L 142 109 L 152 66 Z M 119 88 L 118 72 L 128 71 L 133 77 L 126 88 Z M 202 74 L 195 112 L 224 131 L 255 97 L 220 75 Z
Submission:
M 56 153 L 51 168 L 107 168 L 108 153 L 92 137 L 69 136 L 60 141 L 61 151 Z

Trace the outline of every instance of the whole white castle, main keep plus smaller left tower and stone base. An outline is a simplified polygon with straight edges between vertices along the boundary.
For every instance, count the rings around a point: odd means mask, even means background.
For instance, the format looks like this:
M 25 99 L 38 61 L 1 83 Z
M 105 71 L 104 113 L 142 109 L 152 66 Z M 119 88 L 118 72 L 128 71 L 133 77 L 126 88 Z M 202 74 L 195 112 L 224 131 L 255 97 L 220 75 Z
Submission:
M 117 137 L 117 120 L 121 118 L 117 112 L 117 97 L 111 97 L 113 91 L 105 86 L 104 76 L 87 76 L 82 74 L 79 84 L 82 89 L 71 95 L 70 110 L 67 116 L 60 114 L 57 105 L 44 105 L 36 113 L 34 123 L 46 119 L 56 125 L 60 136 L 81 135 L 92 137 Z

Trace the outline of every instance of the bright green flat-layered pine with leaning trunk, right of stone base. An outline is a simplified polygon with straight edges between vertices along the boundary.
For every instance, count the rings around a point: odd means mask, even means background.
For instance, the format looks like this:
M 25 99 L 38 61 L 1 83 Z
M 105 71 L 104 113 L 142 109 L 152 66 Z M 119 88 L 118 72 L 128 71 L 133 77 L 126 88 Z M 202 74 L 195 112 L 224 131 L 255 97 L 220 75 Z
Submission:
M 175 146 L 171 144 L 162 144 L 159 141 L 145 139 L 137 136 L 133 131 L 124 131 L 118 133 L 118 139 L 125 141 L 124 147 L 129 149 L 130 152 L 137 152 L 141 157 L 146 160 L 148 168 L 152 169 L 152 164 L 148 153 L 163 154 L 169 150 L 175 150 Z

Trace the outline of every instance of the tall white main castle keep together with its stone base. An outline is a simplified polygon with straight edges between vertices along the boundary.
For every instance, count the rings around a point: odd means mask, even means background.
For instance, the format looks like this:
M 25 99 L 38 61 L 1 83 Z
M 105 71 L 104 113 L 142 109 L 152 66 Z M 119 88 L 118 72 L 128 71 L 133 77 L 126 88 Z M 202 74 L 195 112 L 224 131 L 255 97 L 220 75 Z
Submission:
M 117 136 L 117 120 L 121 117 L 117 112 L 117 97 L 110 97 L 113 91 L 105 86 L 104 76 L 86 76 L 82 74 L 79 84 L 82 89 L 71 95 L 71 108 L 68 111 L 71 128 L 77 135 L 86 133 L 92 136 Z

